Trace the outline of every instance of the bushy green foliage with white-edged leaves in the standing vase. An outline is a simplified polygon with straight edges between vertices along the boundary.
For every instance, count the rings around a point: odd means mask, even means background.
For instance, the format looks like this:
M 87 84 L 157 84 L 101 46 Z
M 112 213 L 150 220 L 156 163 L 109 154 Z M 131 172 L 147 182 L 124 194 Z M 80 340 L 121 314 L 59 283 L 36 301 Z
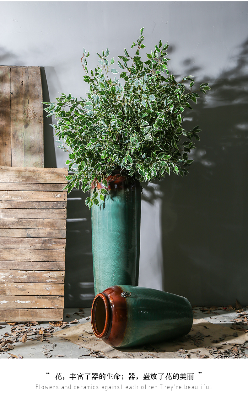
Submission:
M 61 94 L 56 103 L 44 103 L 49 105 L 47 116 L 58 119 L 52 126 L 59 147 L 69 153 L 66 163 L 74 172 L 67 177 L 69 192 L 78 189 L 80 182 L 82 190 L 89 191 L 95 179 L 107 187 L 106 177 L 115 169 L 147 182 L 171 172 L 183 176 L 192 164 L 188 153 L 194 148 L 193 140 L 199 140 L 200 129 L 185 130 L 182 114 L 185 108 L 192 109 L 190 100 L 196 103 L 200 97 L 192 91 L 195 81 L 189 75 L 176 82 L 168 71 L 168 44 L 162 46 L 161 40 L 143 62 L 143 40 L 141 29 L 141 37 L 131 46 L 134 54 L 124 49 L 124 55 L 118 56 L 124 83 L 116 77 L 119 71 L 113 68 L 115 60 L 109 59 L 108 49 L 97 53 L 99 65 L 90 72 L 89 52 L 83 49 L 87 98 Z M 208 83 L 202 83 L 197 91 L 205 94 L 207 90 Z M 85 201 L 89 208 L 99 204 L 98 193 L 104 200 L 107 189 L 94 188 Z

